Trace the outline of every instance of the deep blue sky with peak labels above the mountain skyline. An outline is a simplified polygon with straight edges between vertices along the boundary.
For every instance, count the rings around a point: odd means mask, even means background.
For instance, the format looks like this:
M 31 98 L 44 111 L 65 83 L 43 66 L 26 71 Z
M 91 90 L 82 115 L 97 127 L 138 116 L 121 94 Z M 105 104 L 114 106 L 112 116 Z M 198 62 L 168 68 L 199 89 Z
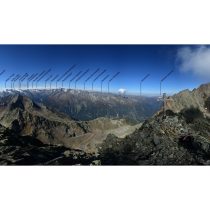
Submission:
M 169 94 L 210 81 L 209 46 L 0 45 L 0 72 L 6 70 L 0 76 L 1 88 L 4 88 L 5 79 L 12 73 L 32 74 L 50 68 L 51 72 L 40 82 L 41 86 L 49 75 L 61 76 L 73 64 L 77 66 L 72 71 L 72 77 L 79 71 L 90 69 L 78 82 L 81 89 L 84 80 L 97 68 L 100 71 L 106 69 L 107 72 L 96 81 L 95 89 L 100 90 L 102 78 L 108 74 L 111 77 L 119 71 L 110 90 L 123 88 L 131 94 L 139 94 L 139 83 L 146 74 L 150 74 L 150 77 L 144 81 L 142 92 L 147 95 L 159 94 L 161 78 L 172 69 L 174 73 L 163 83 L 163 91 Z M 64 86 L 68 86 L 68 80 Z M 91 80 L 87 83 L 87 88 L 91 89 Z M 104 82 L 103 88 L 107 90 L 107 82 Z

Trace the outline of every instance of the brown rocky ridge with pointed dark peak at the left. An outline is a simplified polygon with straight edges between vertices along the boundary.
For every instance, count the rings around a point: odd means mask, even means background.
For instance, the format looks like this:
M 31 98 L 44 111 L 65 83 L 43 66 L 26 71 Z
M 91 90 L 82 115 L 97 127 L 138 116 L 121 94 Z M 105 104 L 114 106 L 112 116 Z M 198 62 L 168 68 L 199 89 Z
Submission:
M 19 94 L 5 98 L 0 122 L 22 136 L 33 136 L 46 144 L 63 144 L 66 139 L 88 132 L 85 122 L 52 112 Z

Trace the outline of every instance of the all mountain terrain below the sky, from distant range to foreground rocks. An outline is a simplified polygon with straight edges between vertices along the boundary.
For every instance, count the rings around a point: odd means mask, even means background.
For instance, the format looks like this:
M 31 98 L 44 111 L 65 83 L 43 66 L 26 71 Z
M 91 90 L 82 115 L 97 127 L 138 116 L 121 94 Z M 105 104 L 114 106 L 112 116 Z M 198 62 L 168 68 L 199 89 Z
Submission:
M 1 93 L 0 164 L 210 164 L 210 83 L 167 97 L 165 111 L 157 98 L 131 96 L 129 100 L 112 95 L 103 102 L 110 104 L 104 106 L 110 115 L 98 108 L 91 119 L 91 106 L 100 107 L 97 97 L 103 95 L 67 94 L 63 90 L 53 95 L 46 91 Z M 71 103 L 71 111 L 59 107 L 56 102 L 61 100 L 64 107 Z M 78 101 L 88 104 L 81 118 Z M 123 107 L 124 115 L 118 112 L 116 116 L 117 106 Z M 151 107 L 146 115 L 142 115 L 144 106 Z

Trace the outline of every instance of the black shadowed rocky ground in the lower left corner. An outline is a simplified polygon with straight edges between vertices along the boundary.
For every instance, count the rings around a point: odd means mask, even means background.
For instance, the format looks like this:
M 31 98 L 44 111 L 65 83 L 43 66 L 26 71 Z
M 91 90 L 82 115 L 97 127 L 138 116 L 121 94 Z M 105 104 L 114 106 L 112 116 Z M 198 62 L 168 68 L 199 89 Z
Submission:
M 0 126 L 0 165 L 94 165 L 94 160 L 83 151 L 46 145 Z

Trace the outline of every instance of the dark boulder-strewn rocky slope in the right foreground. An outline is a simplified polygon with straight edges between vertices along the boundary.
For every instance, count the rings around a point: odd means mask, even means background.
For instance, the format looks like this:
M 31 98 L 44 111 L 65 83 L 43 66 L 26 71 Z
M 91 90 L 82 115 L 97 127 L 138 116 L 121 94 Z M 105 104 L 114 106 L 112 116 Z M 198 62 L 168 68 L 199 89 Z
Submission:
M 167 111 L 124 139 L 109 135 L 100 147 L 104 165 L 210 165 L 210 119 L 198 109 Z

